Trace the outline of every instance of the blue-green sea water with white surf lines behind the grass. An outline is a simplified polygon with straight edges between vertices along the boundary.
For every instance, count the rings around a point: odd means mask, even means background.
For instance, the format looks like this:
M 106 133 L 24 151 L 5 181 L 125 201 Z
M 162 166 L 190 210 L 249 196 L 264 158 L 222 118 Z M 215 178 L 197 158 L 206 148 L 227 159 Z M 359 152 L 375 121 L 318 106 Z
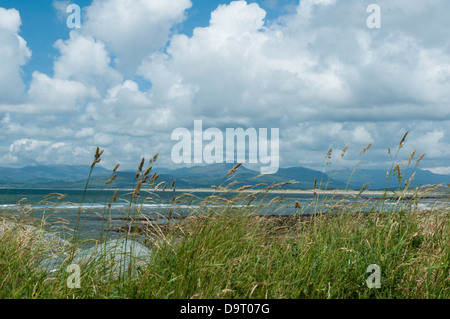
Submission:
M 370 207 L 377 202 L 374 197 L 343 197 L 313 194 L 266 194 L 233 201 L 236 193 L 216 193 L 224 200 L 205 203 L 211 192 L 181 193 L 173 191 L 147 192 L 141 191 L 138 200 L 132 200 L 132 192 L 120 190 L 117 199 L 112 202 L 114 190 L 42 190 L 42 189 L 0 189 L 0 213 L 29 216 L 38 220 L 45 220 L 47 230 L 63 232 L 59 226 L 75 228 L 79 217 L 81 233 L 87 238 L 99 239 L 105 232 L 113 233 L 115 227 L 124 226 L 124 219 L 133 217 L 147 219 L 153 223 L 167 223 L 170 214 L 174 221 L 183 216 L 204 213 L 205 210 L 217 211 L 246 207 L 247 211 L 258 214 L 290 215 L 295 213 L 310 214 L 326 210 L 333 203 L 343 200 L 348 205 L 367 203 Z M 275 203 L 274 203 L 275 201 Z M 295 209 L 295 203 L 300 202 L 301 209 Z M 269 203 L 272 203 L 269 205 Z M 438 203 L 423 201 L 418 203 L 420 208 L 431 208 Z M 387 203 L 384 209 L 396 207 L 395 203 Z

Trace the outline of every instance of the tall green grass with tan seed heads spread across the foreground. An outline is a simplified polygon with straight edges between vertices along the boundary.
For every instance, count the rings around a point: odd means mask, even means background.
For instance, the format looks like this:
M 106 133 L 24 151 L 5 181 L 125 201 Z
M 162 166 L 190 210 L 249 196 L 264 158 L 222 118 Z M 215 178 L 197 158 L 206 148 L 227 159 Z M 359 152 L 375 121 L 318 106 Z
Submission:
M 92 168 L 100 159 L 98 154 L 99 150 Z M 417 209 L 415 204 L 424 192 L 413 190 L 412 197 L 406 196 L 411 189 L 408 179 L 405 183 L 398 176 L 401 168 L 393 165 L 391 174 L 396 172 L 403 187 L 396 196 L 383 196 L 376 202 L 362 201 L 362 190 L 352 200 L 317 200 L 311 207 L 296 204 L 292 216 L 268 217 L 259 213 L 292 205 L 283 196 L 265 200 L 271 190 L 283 185 L 254 193 L 238 191 L 248 186 L 231 185 L 230 193 L 203 199 L 191 216 L 155 226 L 132 222 L 142 217 L 140 207 L 147 200 L 143 185 L 152 190 L 162 187 L 156 174 L 150 178 L 150 166 L 143 173 L 142 161 L 121 233 L 130 240 L 144 238 L 142 242 L 152 249 L 151 262 L 137 276 L 105 276 L 99 271 L 100 262 L 80 265 L 80 288 L 70 289 L 66 271 L 70 260 L 51 276 L 36 271 L 36 260 L 45 247 L 33 249 L 33 237 L 13 229 L 0 236 L 0 298 L 448 299 L 449 207 Z M 175 196 L 173 202 L 189 205 L 191 200 L 192 195 L 185 194 Z M 388 204 L 393 209 L 385 209 Z M 314 213 L 305 215 L 307 210 Z M 77 227 L 81 210 L 79 216 Z M 73 237 L 79 239 L 76 234 Z M 76 248 L 78 242 L 74 244 Z M 378 289 L 367 284 L 371 275 L 367 269 L 374 264 L 381 270 Z

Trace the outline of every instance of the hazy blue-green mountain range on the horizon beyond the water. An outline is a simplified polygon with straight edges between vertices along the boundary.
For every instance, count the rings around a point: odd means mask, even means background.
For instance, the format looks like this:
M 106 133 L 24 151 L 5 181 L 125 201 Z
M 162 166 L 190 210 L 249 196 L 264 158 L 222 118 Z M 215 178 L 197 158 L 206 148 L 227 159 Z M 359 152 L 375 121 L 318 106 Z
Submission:
M 322 182 L 321 189 L 360 189 L 364 184 L 369 183 L 367 189 L 385 189 L 387 185 L 386 173 L 384 169 L 358 169 L 352 174 L 352 170 L 335 170 L 322 174 L 320 171 L 305 167 L 280 168 L 276 174 L 260 175 L 259 172 L 240 166 L 237 171 L 228 175 L 227 173 L 234 167 L 234 164 L 211 164 L 206 166 L 184 167 L 179 169 L 155 168 L 159 174 L 157 183 L 167 182 L 169 185 L 175 180 L 177 188 L 210 188 L 211 186 L 225 186 L 232 182 L 239 182 L 239 185 L 271 185 L 295 180 L 297 183 L 285 185 L 284 188 L 291 189 L 312 189 L 314 180 L 317 179 L 317 186 Z M 2 188 L 84 188 L 90 167 L 87 165 L 59 165 L 59 166 L 27 166 L 22 168 L 2 168 L 0 167 L 0 187 Z M 409 178 L 412 170 L 402 171 L 403 180 Z M 427 170 L 415 169 L 413 186 L 428 184 L 450 183 L 450 175 L 434 174 Z M 112 170 L 101 166 L 96 166 L 89 181 L 91 188 L 104 188 L 105 182 L 112 176 Z M 113 188 L 133 188 L 136 172 L 117 171 L 117 177 L 111 187 Z M 349 178 L 351 176 L 351 180 Z M 347 186 L 348 183 L 348 186 Z M 263 187 L 263 186 L 261 186 Z M 388 188 L 398 188 L 397 176 L 391 176 Z

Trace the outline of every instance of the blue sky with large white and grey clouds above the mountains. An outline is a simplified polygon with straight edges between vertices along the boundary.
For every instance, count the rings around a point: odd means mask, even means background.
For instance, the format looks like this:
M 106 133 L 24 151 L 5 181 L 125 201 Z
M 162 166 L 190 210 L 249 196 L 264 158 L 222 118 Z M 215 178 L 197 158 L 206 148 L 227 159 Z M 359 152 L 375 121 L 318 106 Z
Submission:
M 339 167 L 390 167 L 409 131 L 399 159 L 417 149 L 421 168 L 450 174 L 448 12 L 448 0 L 0 0 L 0 166 L 90 164 L 99 146 L 107 168 L 155 153 L 180 168 L 172 132 L 202 120 L 279 128 L 280 166 L 313 169 L 330 148 Z

